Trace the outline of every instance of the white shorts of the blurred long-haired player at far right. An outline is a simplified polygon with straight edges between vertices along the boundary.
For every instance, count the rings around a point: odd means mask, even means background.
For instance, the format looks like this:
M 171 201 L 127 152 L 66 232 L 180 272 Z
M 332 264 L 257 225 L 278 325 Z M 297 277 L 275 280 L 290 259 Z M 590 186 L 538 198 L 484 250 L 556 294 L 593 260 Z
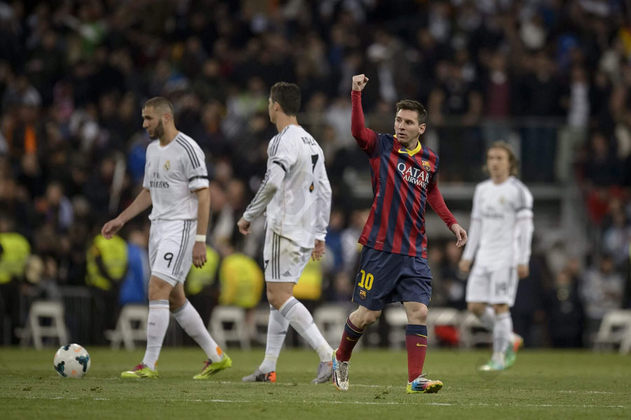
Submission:
M 467 302 L 488 304 L 515 304 L 517 295 L 517 269 L 502 267 L 489 269 L 473 265 L 467 281 Z

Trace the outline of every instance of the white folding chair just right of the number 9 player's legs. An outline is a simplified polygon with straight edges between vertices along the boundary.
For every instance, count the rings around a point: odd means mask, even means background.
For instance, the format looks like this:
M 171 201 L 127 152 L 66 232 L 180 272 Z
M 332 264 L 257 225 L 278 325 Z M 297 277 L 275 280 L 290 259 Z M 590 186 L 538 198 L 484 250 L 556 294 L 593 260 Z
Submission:
M 250 350 L 245 309 L 234 306 L 215 307 L 208 327 L 212 338 L 220 347 L 226 348 L 227 342 L 238 342 L 241 349 Z

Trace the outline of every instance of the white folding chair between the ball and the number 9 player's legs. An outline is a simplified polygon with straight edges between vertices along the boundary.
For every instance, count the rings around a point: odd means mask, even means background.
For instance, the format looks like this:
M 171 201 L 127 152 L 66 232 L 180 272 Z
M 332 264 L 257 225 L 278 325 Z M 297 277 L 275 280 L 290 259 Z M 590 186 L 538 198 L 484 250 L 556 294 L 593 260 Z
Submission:
M 147 316 L 149 308 L 144 304 L 125 304 L 118 315 L 115 330 L 106 330 L 105 337 L 111 342 L 111 348 L 118 350 L 121 342 L 125 349 L 133 351 L 136 341 L 147 341 Z

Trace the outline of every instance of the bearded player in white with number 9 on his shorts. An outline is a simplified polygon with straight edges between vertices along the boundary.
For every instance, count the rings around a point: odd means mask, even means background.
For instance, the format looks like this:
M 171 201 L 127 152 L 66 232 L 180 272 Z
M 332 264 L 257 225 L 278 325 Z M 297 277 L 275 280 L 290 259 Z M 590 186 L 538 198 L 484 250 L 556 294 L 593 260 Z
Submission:
M 210 337 L 197 310 L 184 295 L 184 280 L 191 262 L 206 262 L 205 234 L 210 215 L 208 172 L 204 153 L 196 142 L 177 131 L 173 106 L 154 97 L 142 107 L 142 127 L 154 141 L 147 147 L 142 191 L 118 217 L 105 223 L 101 233 L 110 239 L 125 223 L 153 206 L 149 220 L 149 317 L 147 351 L 142 363 L 121 374 L 123 378 L 158 377 L 158 356 L 169 325 L 169 310 L 180 326 L 205 351 L 208 361 L 194 379 L 208 379 L 231 367 L 232 360 Z

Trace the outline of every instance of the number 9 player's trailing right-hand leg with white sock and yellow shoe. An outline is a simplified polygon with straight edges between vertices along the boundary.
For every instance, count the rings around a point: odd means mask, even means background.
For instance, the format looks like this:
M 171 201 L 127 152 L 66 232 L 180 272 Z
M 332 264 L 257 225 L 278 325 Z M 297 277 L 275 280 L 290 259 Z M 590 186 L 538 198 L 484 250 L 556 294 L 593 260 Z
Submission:
M 208 357 L 200 374 L 194 379 L 208 379 L 217 372 L 232 366 L 232 360 L 210 336 L 201 316 L 184 295 L 184 283 L 177 283 L 169 296 L 171 313 L 182 329 L 203 349 Z

